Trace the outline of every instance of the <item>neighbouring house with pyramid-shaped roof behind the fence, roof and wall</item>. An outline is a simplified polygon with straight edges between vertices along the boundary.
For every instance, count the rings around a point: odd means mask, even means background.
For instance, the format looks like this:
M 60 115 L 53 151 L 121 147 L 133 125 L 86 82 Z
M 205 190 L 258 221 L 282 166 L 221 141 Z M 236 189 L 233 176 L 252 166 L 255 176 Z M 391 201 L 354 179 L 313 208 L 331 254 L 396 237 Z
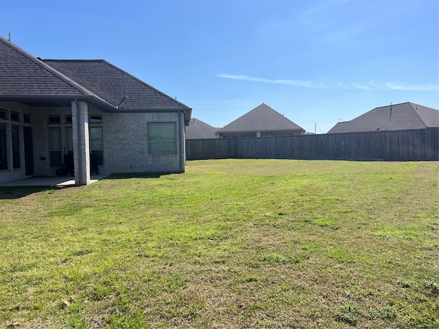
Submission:
M 219 138 L 272 137 L 302 135 L 305 130 L 262 103 L 218 130 L 216 134 Z

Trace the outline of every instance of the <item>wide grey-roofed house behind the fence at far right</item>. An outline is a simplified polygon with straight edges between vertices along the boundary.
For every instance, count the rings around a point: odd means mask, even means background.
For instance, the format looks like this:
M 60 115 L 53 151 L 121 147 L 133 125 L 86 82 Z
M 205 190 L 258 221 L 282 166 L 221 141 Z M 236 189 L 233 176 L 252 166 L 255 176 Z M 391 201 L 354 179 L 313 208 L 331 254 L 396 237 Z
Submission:
M 439 127 L 439 111 L 407 102 L 374 108 L 351 121 L 339 122 L 329 130 L 328 134 L 415 130 L 430 127 Z

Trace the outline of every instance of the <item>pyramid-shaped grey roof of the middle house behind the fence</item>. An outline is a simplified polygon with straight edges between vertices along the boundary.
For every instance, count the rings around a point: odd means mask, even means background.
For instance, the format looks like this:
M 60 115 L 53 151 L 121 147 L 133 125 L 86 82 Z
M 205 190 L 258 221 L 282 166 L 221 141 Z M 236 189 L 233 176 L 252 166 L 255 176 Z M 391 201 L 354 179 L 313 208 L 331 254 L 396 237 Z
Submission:
M 287 119 L 283 114 L 276 112 L 270 106 L 262 103 L 242 117 L 224 126 L 217 134 L 230 132 L 268 132 L 276 130 L 305 130 Z

